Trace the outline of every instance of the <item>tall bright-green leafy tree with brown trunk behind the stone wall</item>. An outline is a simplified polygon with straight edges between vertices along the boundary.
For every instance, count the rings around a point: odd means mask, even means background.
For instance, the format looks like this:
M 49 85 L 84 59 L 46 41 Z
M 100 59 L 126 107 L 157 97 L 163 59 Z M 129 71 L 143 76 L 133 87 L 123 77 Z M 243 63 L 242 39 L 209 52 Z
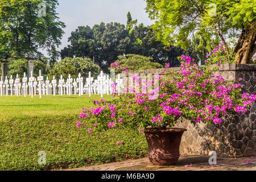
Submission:
M 236 37 L 233 53 L 236 63 L 249 63 L 256 51 L 255 0 L 146 0 L 147 13 L 155 20 L 158 40 L 167 46 L 188 48 L 191 34 L 196 31 L 218 36 L 228 45 Z

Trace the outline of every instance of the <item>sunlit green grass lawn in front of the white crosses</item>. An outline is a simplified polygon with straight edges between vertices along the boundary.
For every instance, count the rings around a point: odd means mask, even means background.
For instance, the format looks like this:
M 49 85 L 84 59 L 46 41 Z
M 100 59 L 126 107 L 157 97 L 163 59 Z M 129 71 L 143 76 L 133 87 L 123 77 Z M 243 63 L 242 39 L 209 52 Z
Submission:
M 0 97 L 0 170 L 72 168 L 145 156 L 146 139 L 137 131 L 88 134 L 75 127 L 81 108 L 99 99 Z M 115 146 L 118 140 L 123 140 L 123 146 Z M 39 151 L 46 152 L 46 165 L 38 164 Z

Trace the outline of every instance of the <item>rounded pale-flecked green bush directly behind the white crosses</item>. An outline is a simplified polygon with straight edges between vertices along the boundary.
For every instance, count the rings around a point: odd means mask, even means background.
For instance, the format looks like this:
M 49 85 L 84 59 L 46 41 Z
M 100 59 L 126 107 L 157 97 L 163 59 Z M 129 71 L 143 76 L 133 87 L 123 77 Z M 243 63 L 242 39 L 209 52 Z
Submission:
M 89 72 L 92 72 L 92 77 L 97 77 L 100 74 L 100 67 L 93 64 L 89 58 L 66 57 L 53 65 L 50 76 L 59 78 L 62 75 L 64 78 L 68 78 L 68 74 L 70 74 L 72 78 L 77 78 L 81 73 L 82 77 L 88 77 Z

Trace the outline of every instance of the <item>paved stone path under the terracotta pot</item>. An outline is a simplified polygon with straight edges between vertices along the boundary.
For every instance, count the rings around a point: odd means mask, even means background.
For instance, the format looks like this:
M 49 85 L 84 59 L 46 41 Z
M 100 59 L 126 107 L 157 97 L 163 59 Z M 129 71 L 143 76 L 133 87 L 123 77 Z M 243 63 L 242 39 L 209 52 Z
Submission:
M 217 164 L 210 166 L 210 156 L 190 155 L 181 156 L 174 166 L 155 166 L 148 158 L 126 160 L 109 164 L 100 164 L 90 167 L 67 169 L 73 171 L 256 171 L 256 156 L 248 158 L 217 158 Z

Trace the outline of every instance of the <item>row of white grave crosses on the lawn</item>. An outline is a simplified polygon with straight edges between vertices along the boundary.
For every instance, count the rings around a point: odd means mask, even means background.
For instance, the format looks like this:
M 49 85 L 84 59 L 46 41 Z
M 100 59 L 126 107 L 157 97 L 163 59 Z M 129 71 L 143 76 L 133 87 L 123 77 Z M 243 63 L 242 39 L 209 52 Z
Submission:
M 34 97 L 36 94 L 39 94 L 39 98 L 42 98 L 43 95 L 53 95 L 59 94 L 63 96 L 67 94 L 71 96 L 71 94 L 79 94 L 82 96 L 83 94 L 88 94 L 89 97 L 92 94 L 101 94 L 103 97 L 104 94 L 111 94 L 113 81 L 109 78 L 109 75 L 105 75 L 102 71 L 97 79 L 94 79 L 89 72 L 88 78 L 83 78 L 81 73 L 79 73 L 76 79 L 73 79 L 71 75 L 68 75 L 67 80 L 60 76 L 60 79 L 57 81 L 55 76 L 53 76 L 52 80 L 49 80 L 47 77 L 44 80 L 42 76 L 42 72 L 39 71 L 39 76 L 34 77 L 31 72 L 31 77 L 27 77 L 26 73 L 24 73 L 23 78 L 20 80 L 18 74 L 16 75 L 15 80 L 13 76 L 10 76 L 10 79 L 5 77 L 5 81 L 0 81 L 0 95 L 1 96 L 20 96 L 23 95 L 26 97 L 29 95 L 30 97 Z M 85 82 L 84 82 L 85 80 Z M 118 75 L 117 80 L 117 90 L 118 93 L 121 89 L 122 79 L 120 75 Z

